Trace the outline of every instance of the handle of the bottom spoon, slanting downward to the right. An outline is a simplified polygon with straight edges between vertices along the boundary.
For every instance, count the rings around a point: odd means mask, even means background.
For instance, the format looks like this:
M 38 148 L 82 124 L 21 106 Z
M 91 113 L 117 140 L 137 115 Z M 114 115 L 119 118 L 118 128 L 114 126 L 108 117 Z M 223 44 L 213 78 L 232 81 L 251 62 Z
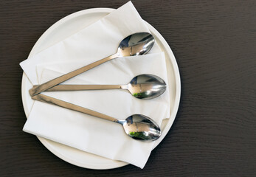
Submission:
M 92 111 L 91 109 L 88 109 L 88 108 L 83 108 L 79 105 L 74 105 L 72 103 L 67 103 L 63 100 L 58 100 L 54 97 L 49 97 L 49 96 L 46 96 L 44 94 L 36 94 L 35 96 L 32 96 L 32 99 L 33 100 L 38 100 L 38 101 L 41 101 L 41 102 L 44 102 L 44 103 L 49 103 L 49 104 L 52 104 L 52 105 L 58 105 L 58 106 L 63 107 L 63 108 L 68 108 L 68 109 L 73 110 L 73 111 L 78 111 L 78 112 L 81 112 L 81 113 L 84 113 L 84 114 L 89 114 L 91 116 L 99 117 L 99 118 L 102 118 L 102 119 L 107 119 L 107 120 L 110 120 L 110 121 L 113 121 L 113 122 L 120 122 L 120 120 L 115 119 L 114 117 L 110 117 L 110 116 L 107 116 L 105 114 L 101 114 L 99 112 Z

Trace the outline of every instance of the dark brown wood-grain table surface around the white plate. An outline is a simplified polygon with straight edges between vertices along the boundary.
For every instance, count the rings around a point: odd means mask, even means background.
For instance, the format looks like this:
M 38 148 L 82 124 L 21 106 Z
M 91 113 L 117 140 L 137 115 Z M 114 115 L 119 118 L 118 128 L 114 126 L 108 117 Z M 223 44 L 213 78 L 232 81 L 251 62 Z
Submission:
M 0 1 L 0 176 L 256 176 L 256 1 L 134 0 L 181 74 L 173 127 L 145 168 L 89 170 L 22 131 L 22 69 L 35 41 L 70 13 L 122 1 Z

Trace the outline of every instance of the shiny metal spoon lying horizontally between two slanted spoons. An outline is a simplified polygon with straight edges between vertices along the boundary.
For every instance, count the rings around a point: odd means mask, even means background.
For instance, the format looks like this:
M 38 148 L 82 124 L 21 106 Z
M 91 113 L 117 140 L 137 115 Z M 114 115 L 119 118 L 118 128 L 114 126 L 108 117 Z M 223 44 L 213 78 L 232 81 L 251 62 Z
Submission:
M 165 81 L 153 74 L 141 74 L 134 77 L 126 85 L 58 85 L 46 91 L 80 91 L 80 90 L 105 90 L 125 89 L 139 99 L 152 99 L 159 97 L 166 90 Z

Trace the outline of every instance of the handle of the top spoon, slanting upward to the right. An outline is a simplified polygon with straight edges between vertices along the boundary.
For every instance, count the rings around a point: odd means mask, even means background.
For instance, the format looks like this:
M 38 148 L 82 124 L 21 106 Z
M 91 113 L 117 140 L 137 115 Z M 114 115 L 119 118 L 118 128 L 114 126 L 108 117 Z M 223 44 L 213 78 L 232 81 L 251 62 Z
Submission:
M 70 78 L 75 77 L 75 76 L 77 76 L 78 74 L 81 74 L 81 73 L 83 73 L 83 72 L 86 72 L 86 71 L 88 71 L 89 69 L 92 69 L 92 68 L 94 68 L 94 67 L 96 67 L 96 66 L 99 66 L 99 65 L 102 64 L 102 63 L 107 62 L 108 60 L 111 60 L 111 59 L 114 59 L 114 58 L 117 58 L 117 57 L 118 57 L 118 54 L 117 54 L 117 53 L 114 54 L 114 55 L 110 55 L 110 56 L 108 56 L 107 58 L 103 58 L 103 59 L 101 59 L 101 60 L 97 60 L 97 61 L 95 61 L 94 63 L 91 63 L 91 64 L 89 64 L 89 65 L 87 65 L 87 66 L 83 66 L 82 68 L 77 69 L 77 70 L 75 70 L 75 71 L 73 71 L 73 72 L 69 72 L 69 73 L 67 73 L 67 74 L 63 74 L 63 75 L 60 76 L 60 77 L 57 77 L 57 78 L 55 78 L 55 79 L 53 79 L 53 80 L 49 80 L 49 81 L 46 82 L 46 83 L 43 83 L 43 84 L 38 85 L 38 86 L 36 86 L 36 87 L 33 87 L 32 89 L 30 89 L 30 96 L 34 96 L 35 94 L 39 94 L 39 93 L 41 93 L 42 91 L 46 91 L 47 89 L 49 89 L 49 88 L 51 88 L 51 87 L 53 87 L 53 86 L 56 86 L 56 85 L 58 85 L 59 83 L 63 83 L 64 81 L 69 80 Z

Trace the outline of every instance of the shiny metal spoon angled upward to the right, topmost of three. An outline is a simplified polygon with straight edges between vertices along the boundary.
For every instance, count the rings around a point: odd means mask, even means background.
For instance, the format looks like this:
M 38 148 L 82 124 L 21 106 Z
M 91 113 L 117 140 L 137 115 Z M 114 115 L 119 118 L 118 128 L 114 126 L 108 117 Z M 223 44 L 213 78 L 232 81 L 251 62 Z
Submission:
M 49 80 L 48 82 L 43 83 L 41 85 L 35 86 L 32 89 L 30 89 L 30 95 L 33 96 L 35 94 L 41 93 L 42 91 L 46 91 L 47 89 L 56 86 L 59 83 L 63 83 L 64 81 L 69 80 L 70 78 L 75 77 L 78 74 L 86 72 L 89 69 L 99 66 L 100 64 L 105 63 L 108 60 L 126 56 L 145 55 L 151 50 L 154 42 L 155 40 L 153 38 L 153 35 L 151 35 L 148 32 L 137 32 L 132 35 L 129 35 L 120 42 L 117 48 L 117 53 L 115 53 L 114 55 L 110 55 L 107 58 L 103 58 L 102 60 L 97 60 L 94 63 L 91 63 L 87 66 L 83 66 L 82 68 L 77 69 L 73 72 L 63 74 L 60 77 L 57 77 L 53 80 Z

